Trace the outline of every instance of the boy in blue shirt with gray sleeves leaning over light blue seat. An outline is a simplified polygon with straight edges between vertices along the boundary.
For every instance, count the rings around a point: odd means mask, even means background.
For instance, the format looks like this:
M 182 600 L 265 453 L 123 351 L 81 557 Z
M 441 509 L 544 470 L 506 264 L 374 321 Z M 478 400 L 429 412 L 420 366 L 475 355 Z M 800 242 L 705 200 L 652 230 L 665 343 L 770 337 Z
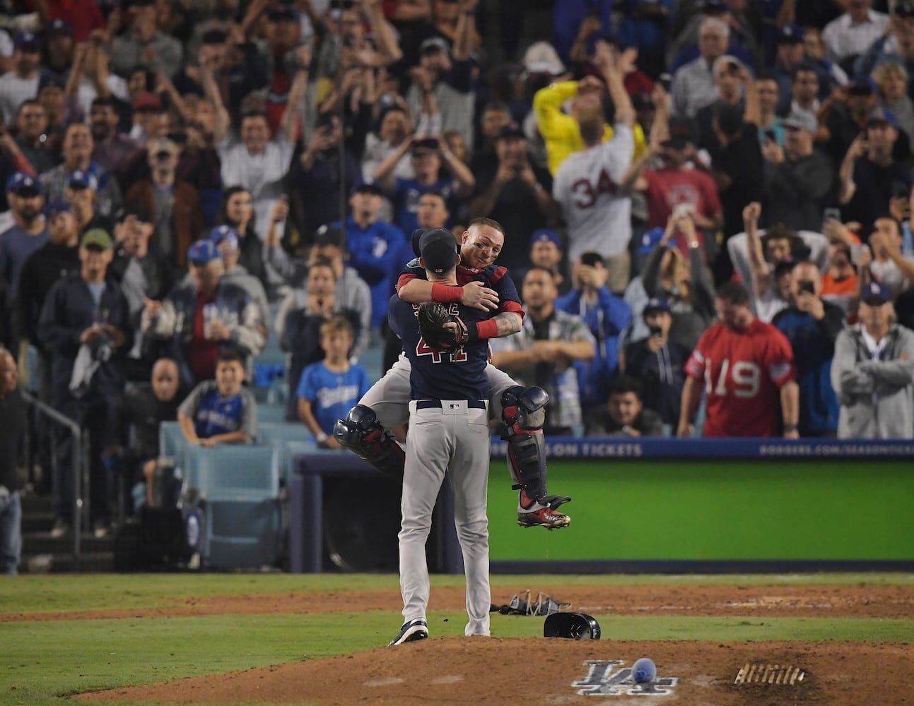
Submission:
M 177 420 L 189 444 L 249 442 L 257 435 L 257 401 L 244 382 L 244 357 L 223 349 L 216 358 L 216 379 L 197 385 L 177 410 Z

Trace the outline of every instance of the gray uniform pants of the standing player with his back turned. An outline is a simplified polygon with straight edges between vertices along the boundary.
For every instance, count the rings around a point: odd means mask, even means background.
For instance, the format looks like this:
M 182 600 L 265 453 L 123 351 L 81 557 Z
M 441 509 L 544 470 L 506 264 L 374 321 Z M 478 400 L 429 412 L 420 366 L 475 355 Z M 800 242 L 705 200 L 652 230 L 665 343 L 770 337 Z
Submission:
M 466 574 L 465 635 L 489 634 L 489 521 L 485 514 L 489 478 L 489 417 L 466 400 L 442 400 L 441 407 L 417 409 L 409 403 L 409 436 L 399 532 L 403 618 L 426 619 L 429 567 L 425 543 L 431 513 L 445 472 L 454 491 L 454 522 Z

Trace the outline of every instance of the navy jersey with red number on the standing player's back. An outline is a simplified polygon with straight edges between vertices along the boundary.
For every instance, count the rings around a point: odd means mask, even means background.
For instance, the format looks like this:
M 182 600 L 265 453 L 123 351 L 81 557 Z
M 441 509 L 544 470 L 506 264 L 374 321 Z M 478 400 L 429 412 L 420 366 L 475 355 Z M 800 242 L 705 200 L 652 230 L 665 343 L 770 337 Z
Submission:
M 459 316 L 467 325 L 471 321 L 485 321 L 493 314 L 464 307 L 452 302 L 448 311 Z M 457 353 L 439 353 L 430 349 L 419 334 L 416 314 L 419 304 L 400 300 L 395 294 L 390 298 L 388 321 L 393 332 L 403 343 L 403 353 L 409 358 L 412 373 L 409 375 L 410 399 L 473 399 L 489 398 L 489 379 L 485 374 L 488 363 L 488 341 L 479 339 L 467 343 Z

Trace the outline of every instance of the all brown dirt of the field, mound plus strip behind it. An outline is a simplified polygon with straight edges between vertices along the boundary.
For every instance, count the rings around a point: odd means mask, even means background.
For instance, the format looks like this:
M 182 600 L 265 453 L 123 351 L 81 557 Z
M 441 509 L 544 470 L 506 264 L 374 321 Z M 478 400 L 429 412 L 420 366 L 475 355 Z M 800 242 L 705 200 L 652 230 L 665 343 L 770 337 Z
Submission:
M 496 604 L 517 590 L 498 588 Z M 912 617 L 909 585 L 620 585 L 537 586 L 595 615 Z M 432 589 L 430 609 L 461 610 L 463 591 Z M 186 599 L 174 606 L 130 611 L 26 614 L 0 619 L 191 616 L 214 614 L 303 614 L 398 610 L 390 591 L 245 595 Z M 294 619 L 291 617 L 291 619 Z M 528 618 L 516 618 L 528 619 Z M 540 619 L 540 618 L 529 618 Z M 393 629 L 396 626 L 392 626 Z M 914 643 L 872 642 L 697 642 L 547 638 L 432 638 L 396 648 L 378 647 L 326 659 L 81 694 L 80 701 L 161 703 L 379 704 L 561 704 L 675 703 L 677 706 L 750 704 L 914 703 Z M 637 695 L 625 668 L 648 656 L 658 677 L 675 679 L 665 694 Z M 590 660 L 611 662 L 596 668 Z M 735 684 L 749 663 L 790 665 L 803 674 L 792 686 Z M 582 690 L 614 690 L 586 696 Z

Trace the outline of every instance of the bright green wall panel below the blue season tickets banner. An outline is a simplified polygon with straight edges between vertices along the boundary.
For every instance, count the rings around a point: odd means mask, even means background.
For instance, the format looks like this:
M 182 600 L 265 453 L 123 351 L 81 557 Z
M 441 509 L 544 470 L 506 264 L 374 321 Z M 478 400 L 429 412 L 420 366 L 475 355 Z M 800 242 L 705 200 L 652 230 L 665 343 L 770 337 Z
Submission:
M 550 458 L 568 529 L 521 531 L 504 460 L 489 480 L 496 562 L 914 560 L 914 459 Z

